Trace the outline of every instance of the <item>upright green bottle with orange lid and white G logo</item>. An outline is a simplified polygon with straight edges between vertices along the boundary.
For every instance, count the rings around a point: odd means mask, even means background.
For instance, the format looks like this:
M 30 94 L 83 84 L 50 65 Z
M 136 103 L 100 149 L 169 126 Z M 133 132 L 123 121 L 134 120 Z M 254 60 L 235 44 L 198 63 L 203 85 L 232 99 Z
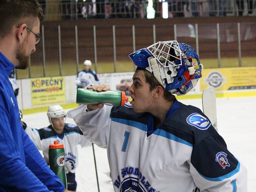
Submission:
M 65 150 L 64 145 L 58 141 L 49 145 L 49 163 L 50 169 L 57 175 L 67 189 L 67 176 L 65 169 Z

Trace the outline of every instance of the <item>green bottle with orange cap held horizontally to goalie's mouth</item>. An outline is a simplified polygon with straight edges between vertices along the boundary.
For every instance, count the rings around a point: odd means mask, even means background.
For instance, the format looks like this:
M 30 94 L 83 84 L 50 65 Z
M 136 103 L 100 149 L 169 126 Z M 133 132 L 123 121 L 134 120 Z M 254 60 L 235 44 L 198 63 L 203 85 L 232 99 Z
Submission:
M 111 103 L 114 106 L 124 106 L 128 97 L 125 97 L 123 91 L 102 91 L 97 92 L 92 89 L 77 89 L 76 103 L 77 104 L 97 104 Z

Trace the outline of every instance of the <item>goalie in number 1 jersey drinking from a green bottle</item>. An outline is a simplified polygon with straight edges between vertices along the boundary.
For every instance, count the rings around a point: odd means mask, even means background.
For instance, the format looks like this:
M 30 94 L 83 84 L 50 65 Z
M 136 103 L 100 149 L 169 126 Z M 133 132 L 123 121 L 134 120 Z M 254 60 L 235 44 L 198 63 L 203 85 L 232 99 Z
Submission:
M 246 168 L 207 116 L 172 95 L 186 94 L 202 77 L 195 50 L 165 41 L 129 57 L 137 66 L 130 103 L 81 105 L 67 113 L 85 137 L 107 148 L 115 192 L 246 192 Z

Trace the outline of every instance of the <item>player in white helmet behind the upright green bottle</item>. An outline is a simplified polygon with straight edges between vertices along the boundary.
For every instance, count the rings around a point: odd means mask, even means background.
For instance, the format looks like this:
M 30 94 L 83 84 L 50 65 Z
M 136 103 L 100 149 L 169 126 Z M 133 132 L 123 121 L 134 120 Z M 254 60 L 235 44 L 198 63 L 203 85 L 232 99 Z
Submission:
M 21 113 L 22 114 L 22 113 Z M 66 112 L 60 105 L 50 106 L 47 111 L 50 125 L 42 129 L 32 129 L 23 123 L 23 128 L 39 150 L 43 151 L 44 160 L 49 164 L 49 145 L 58 140 L 65 148 L 65 165 L 68 190 L 76 191 L 75 171 L 78 165 L 77 145 L 91 146 L 80 129 L 75 124 L 66 124 Z M 22 118 L 22 115 L 20 116 Z

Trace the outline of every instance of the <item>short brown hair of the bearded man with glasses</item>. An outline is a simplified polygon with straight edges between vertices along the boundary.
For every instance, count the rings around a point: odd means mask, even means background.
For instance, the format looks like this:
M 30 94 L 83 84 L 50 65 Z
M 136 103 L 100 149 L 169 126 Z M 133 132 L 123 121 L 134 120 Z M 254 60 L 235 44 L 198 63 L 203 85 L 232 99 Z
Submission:
M 44 19 L 41 5 L 36 0 L 0 0 L 0 38 L 7 36 L 15 25 L 26 23 L 33 28 L 36 18 Z

